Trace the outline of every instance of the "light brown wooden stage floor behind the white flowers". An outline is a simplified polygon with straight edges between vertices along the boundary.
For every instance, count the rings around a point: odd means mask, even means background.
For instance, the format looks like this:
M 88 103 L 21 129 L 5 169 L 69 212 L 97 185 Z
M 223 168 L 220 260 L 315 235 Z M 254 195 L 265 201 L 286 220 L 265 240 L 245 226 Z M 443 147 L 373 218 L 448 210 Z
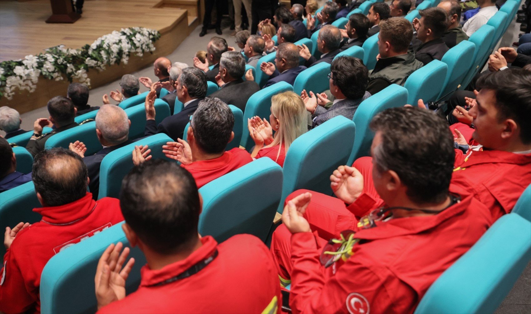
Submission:
M 81 19 L 73 24 L 47 24 L 52 14 L 49 0 L 0 1 L 0 61 L 42 53 L 57 45 L 80 48 L 114 30 L 146 27 L 166 32 L 188 11 L 191 24 L 196 16 L 190 7 L 165 5 L 168 0 L 85 1 Z M 176 1 L 177 3 L 186 3 Z M 158 5 L 159 7 L 155 7 Z M 192 14 L 191 14 L 192 13 Z

